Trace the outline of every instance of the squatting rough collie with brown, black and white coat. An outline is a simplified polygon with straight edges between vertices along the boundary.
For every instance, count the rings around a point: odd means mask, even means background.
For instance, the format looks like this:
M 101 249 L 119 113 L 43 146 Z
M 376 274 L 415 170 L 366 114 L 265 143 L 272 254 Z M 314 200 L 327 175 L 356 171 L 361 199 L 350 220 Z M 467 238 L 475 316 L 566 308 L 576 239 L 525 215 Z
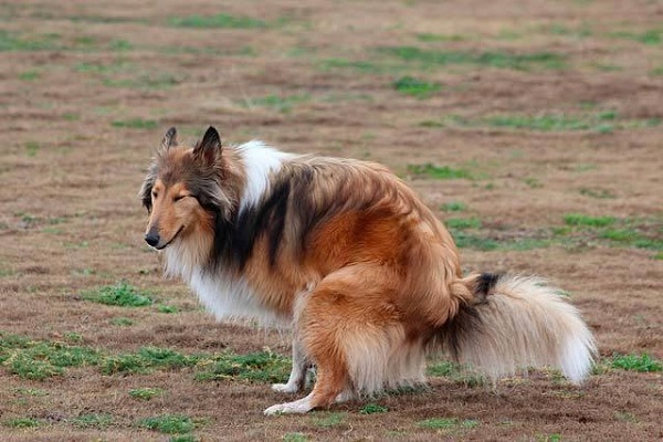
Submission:
M 433 350 L 498 377 L 554 366 L 573 382 L 594 344 L 543 281 L 463 276 L 454 242 L 408 186 L 377 164 L 222 146 L 171 128 L 140 198 L 145 240 L 218 318 L 292 327 L 293 367 L 276 391 L 308 396 L 266 414 L 424 381 Z

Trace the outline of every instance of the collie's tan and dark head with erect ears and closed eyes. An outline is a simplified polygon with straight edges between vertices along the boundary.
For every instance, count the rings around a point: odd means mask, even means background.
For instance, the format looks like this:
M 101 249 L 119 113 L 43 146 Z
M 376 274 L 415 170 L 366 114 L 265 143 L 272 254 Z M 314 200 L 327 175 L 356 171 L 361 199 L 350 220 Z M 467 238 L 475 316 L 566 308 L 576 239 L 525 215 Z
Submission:
M 228 217 L 232 198 L 224 188 L 221 138 L 210 127 L 196 147 L 180 146 L 170 128 L 156 155 L 139 198 L 149 213 L 145 241 L 161 250 L 191 234 L 213 232 Z

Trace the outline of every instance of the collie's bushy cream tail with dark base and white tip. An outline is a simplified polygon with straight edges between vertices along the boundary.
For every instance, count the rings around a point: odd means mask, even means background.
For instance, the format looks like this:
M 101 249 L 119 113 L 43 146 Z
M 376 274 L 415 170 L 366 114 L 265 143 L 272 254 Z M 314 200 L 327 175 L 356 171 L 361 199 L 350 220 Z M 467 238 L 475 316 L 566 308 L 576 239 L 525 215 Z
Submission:
M 443 350 L 493 378 L 551 366 L 572 382 L 585 379 L 596 354 L 593 337 L 558 290 L 536 277 L 482 274 L 463 281 L 477 301 L 439 330 Z

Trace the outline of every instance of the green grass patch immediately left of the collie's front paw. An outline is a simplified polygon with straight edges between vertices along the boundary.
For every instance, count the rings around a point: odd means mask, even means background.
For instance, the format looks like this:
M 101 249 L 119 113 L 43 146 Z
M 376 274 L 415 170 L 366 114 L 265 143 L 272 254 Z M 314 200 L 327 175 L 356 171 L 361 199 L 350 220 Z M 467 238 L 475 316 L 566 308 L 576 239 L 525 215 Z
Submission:
M 198 372 L 196 379 L 278 382 L 287 378 L 290 366 L 288 358 L 271 351 L 248 355 L 227 352 L 214 356 L 211 361 L 206 361 L 203 371 Z

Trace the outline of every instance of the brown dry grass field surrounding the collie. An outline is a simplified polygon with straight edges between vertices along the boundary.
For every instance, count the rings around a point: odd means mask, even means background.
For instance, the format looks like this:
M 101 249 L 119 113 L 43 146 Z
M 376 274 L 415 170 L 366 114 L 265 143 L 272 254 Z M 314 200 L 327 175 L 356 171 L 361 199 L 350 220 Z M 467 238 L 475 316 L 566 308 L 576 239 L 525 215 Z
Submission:
M 662 440 L 661 371 L 613 365 L 663 358 L 661 23 L 646 0 L 3 1 L 0 338 L 288 355 L 286 334 L 217 324 L 143 241 L 136 194 L 164 133 L 213 124 L 229 143 L 388 165 L 455 227 L 467 271 L 568 291 L 601 360 L 581 387 L 438 376 L 265 418 L 287 398 L 262 381 L 94 365 L 39 380 L 0 352 L 0 439 Z M 85 296 L 119 281 L 167 308 Z M 128 393 L 147 387 L 162 393 Z M 139 423 L 164 414 L 194 429 Z

